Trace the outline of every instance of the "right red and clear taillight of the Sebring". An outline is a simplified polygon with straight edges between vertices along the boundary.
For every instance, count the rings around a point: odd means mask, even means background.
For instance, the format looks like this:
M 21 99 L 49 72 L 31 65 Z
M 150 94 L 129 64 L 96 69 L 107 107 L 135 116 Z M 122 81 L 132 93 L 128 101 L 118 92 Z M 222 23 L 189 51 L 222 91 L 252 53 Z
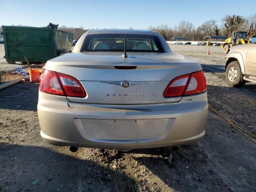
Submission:
M 206 91 L 204 72 L 198 71 L 173 79 L 164 91 L 164 97 L 179 97 L 199 94 Z

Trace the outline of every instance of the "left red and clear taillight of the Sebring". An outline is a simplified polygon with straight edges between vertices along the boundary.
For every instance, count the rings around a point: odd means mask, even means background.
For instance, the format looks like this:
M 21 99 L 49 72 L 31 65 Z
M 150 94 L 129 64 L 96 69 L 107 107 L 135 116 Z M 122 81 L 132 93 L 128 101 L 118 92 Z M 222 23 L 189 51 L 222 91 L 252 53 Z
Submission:
M 86 92 L 78 80 L 50 70 L 43 70 L 39 89 L 42 92 L 54 95 L 86 97 Z

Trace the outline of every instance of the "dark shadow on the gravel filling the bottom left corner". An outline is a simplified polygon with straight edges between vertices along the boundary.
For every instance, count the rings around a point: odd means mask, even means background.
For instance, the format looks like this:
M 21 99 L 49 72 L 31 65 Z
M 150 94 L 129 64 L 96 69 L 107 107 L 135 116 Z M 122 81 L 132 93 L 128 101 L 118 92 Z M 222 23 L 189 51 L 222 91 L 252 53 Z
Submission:
M 136 191 L 134 179 L 126 174 L 54 149 L 1 143 L 0 191 Z

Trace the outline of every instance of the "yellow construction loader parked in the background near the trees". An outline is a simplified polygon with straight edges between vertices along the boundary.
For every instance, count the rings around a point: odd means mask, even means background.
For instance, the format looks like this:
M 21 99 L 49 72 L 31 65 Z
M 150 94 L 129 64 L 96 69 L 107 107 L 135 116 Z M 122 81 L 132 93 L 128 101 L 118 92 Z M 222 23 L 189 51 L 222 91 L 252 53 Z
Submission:
M 237 44 L 247 44 L 246 40 L 246 31 L 234 31 L 232 32 L 232 37 L 225 40 L 224 44 L 221 44 L 221 47 L 224 48 L 224 53 L 228 53 L 230 47 Z

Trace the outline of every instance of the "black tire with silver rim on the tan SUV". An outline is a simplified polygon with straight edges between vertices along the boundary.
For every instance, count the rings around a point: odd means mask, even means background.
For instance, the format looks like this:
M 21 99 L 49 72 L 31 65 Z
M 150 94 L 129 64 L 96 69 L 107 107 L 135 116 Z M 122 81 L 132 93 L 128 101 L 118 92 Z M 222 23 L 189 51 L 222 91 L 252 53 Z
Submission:
M 243 75 L 238 61 L 232 61 L 228 64 L 225 78 L 227 84 L 232 87 L 241 87 L 246 83 L 243 80 Z

